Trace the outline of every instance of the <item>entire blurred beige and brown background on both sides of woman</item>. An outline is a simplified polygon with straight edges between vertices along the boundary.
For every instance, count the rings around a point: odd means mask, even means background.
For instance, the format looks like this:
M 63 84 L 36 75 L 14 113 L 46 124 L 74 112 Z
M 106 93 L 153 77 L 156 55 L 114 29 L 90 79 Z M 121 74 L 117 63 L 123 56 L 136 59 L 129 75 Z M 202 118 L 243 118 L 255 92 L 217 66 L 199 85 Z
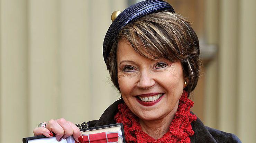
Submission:
M 193 23 L 200 41 L 192 111 L 205 125 L 255 143 L 256 1 L 166 1 Z M 0 0 L 0 143 L 21 143 L 50 119 L 99 119 L 119 98 L 103 39 L 112 12 L 136 2 Z

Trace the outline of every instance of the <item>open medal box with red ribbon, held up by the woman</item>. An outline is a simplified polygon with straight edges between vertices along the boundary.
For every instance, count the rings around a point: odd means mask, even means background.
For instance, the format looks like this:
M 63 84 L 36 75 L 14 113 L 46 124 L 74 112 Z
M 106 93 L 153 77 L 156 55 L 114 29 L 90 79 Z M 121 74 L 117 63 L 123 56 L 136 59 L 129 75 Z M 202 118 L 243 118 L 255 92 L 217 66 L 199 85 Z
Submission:
M 97 126 L 81 130 L 83 135 L 82 143 L 125 143 L 124 126 L 122 123 Z M 26 137 L 22 143 L 77 143 L 73 136 L 62 139 L 58 142 L 53 137 L 44 135 Z

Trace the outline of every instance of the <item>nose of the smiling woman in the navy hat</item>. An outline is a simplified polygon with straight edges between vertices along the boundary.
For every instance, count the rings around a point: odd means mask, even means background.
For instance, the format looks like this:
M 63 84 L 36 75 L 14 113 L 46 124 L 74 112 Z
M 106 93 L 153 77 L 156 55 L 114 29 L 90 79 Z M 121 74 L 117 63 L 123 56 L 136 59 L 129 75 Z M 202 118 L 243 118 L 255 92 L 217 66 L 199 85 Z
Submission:
M 141 89 L 148 89 L 155 85 L 155 80 L 150 76 L 149 73 L 144 72 L 140 74 L 140 79 L 137 86 Z

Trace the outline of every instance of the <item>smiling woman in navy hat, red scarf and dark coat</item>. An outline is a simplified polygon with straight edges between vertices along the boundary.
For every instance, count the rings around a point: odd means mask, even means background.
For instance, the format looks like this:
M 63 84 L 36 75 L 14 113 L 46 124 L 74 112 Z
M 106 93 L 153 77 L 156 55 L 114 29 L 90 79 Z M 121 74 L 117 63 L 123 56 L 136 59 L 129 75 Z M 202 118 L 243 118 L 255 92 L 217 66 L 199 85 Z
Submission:
M 211 129 L 192 113 L 188 99 L 200 70 L 199 42 L 189 21 L 170 4 L 146 0 L 113 18 L 103 56 L 121 99 L 88 126 L 123 123 L 127 143 L 240 142 L 230 133 Z M 61 140 L 80 130 L 65 119 L 50 120 L 35 135 Z

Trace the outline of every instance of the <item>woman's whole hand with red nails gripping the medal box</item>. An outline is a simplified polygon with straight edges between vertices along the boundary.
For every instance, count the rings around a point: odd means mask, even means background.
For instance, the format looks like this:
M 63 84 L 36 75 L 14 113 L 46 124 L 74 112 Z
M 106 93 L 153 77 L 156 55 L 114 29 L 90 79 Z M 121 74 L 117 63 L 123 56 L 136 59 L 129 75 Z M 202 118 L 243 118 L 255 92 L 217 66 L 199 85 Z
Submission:
M 34 135 L 45 135 L 47 137 L 52 137 L 53 133 L 55 133 L 55 137 L 57 141 L 61 141 L 61 139 L 66 139 L 68 136 L 73 135 L 74 139 L 78 142 L 83 141 L 83 136 L 77 126 L 70 121 L 66 121 L 65 119 L 51 119 L 44 127 L 35 128 Z

